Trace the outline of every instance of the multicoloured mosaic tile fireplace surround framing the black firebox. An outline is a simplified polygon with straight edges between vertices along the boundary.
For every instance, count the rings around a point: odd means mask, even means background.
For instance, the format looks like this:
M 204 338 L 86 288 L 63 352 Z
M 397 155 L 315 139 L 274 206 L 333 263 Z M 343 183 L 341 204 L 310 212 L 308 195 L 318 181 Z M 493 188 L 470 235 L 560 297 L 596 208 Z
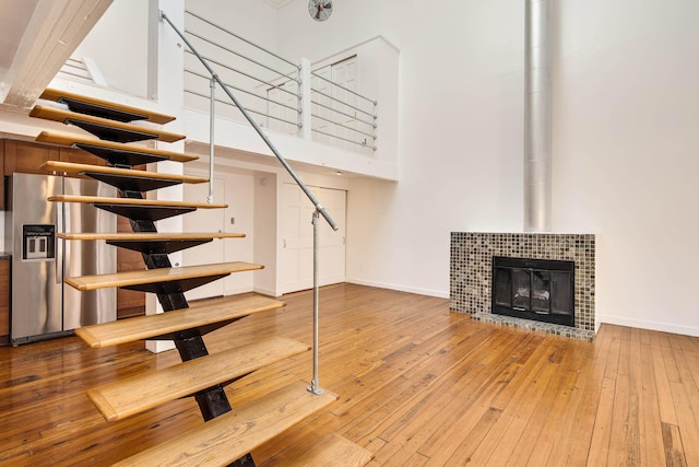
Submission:
M 493 257 L 562 259 L 576 262 L 576 324 L 532 322 L 490 313 Z M 556 334 L 594 337 L 594 234 L 452 232 L 449 289 L 454 312 L 474 319 Z

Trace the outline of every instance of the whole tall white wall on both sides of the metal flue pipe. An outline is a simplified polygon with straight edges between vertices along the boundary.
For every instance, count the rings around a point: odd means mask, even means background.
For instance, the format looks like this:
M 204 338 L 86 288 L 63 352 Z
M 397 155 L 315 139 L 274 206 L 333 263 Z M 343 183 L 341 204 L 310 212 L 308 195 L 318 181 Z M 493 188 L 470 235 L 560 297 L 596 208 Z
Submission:
M 356 0 L 322 24 L 304 3 L 280 13 L 289 54 L 401 50 L 400 182 L 352 182 L 347 275 L 446 296 L 450 231 L 522 230 L 523 2 Z M 597 234 L 599 319 L 699 335 L 699 2 L 554 4 L 554 230 Z

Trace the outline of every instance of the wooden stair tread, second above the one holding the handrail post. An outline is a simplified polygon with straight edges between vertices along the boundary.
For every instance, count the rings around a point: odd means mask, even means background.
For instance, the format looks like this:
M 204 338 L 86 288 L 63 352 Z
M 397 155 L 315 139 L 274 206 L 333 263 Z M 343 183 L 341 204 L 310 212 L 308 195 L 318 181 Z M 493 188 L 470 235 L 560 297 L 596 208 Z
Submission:
M 137 316 L 129 319 L 85 326 L 75 329 L 75 335 L 93 349 L 98 349 L 240 318 L 253 313 L 281 308 L 284 305 L 284 302 L 277 300 L 253 295 L 226 302 L 225 304 L 196 304 L 189 308 L 175 310 L 156 315 Z

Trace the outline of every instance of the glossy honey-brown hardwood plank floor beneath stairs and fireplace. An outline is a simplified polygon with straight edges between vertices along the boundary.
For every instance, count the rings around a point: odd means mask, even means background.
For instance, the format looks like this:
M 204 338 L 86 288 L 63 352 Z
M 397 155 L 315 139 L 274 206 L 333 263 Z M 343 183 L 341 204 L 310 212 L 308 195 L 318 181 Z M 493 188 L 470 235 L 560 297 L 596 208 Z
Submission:
M 351 284 L 320 297 L 320 385 L 340 400 L 258 463 L 336 432 L 374 466 L 699 466 L 699 338 L 604 325 L 583 342 L 472 322 L 442 299 Z M 210 350 L 273 335 L 310 343 L 310 292 L 284 300 L 209 335 Z M 177 360 L 76 338 L 0 348 L 0 465 L 108 465 L 202 423 L 189 398 L 107 423 L 85 396 Z M 235 410 L 310 374 L 307 352 L 226 390 Z

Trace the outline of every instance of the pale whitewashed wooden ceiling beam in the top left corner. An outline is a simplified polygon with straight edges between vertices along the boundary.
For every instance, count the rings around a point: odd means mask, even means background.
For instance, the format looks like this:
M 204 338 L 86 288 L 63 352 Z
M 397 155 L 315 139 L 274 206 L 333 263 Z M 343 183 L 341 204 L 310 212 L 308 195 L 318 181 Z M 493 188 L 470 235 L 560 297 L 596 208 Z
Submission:
M 1 101 L 32 106 L 111 1 L 38 0 L 3 80 Z

